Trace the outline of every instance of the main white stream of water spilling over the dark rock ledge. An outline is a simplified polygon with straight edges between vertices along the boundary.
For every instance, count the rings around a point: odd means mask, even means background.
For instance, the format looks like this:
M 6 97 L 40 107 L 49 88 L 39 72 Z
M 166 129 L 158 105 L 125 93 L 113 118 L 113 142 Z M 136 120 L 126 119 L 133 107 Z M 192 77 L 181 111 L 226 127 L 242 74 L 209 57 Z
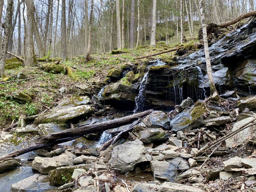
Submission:
M 165 65 L 166 63 L 163 63 L 163 61 L 160 60 L 156 60 L 156 61 L 151 61 L 146 68 L 146 70 L 148 70 L 148 68 L 152 67 L 152 66 L 161 66 L 161 65 Z M 145 91 L 146 91 L 146 83 L 148 81 L 148 72 L 144 75 L 141 84 L 140 84 L 140 88 L 139 88 L 139 94 L 138 96 L 136 96 L 135 98 L 135 109 L 133 110 L 133 113 L 137 113 L 138 111 L 142 111 L 145 107 L 145 103 L 146 103 L 146 98 L 145 98 Z

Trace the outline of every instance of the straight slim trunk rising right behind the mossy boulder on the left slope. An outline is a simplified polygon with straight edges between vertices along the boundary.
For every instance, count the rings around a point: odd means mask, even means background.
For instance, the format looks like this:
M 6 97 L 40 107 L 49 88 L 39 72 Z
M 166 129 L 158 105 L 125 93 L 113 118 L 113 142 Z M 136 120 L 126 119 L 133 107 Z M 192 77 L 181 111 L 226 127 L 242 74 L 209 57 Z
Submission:
M 62 61 L 67 60 L 67 51 L 66 51 L 66 1 L 62 0 Z

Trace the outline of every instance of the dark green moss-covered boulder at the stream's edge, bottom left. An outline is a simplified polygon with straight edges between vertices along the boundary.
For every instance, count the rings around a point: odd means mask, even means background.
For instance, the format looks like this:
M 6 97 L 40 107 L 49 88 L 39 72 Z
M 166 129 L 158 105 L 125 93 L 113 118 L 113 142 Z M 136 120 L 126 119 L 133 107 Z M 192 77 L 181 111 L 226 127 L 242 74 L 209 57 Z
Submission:
M 91 168 L 91 164 L 80 164 L 76 166 L 58 167 L 57 169 L 49 172 L 50 185 L 60 186 L 65 183 L 71 182 L 71 178 L 74 169 L 85 169 L 88 171 Z

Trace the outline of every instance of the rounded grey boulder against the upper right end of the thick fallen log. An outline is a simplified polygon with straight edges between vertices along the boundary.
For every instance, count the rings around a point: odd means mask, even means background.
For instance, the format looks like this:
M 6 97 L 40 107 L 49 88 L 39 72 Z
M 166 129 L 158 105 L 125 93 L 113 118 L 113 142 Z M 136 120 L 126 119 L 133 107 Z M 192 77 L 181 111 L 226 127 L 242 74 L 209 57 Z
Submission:
M 169 129 L 170 119 L 162 111 L 153 111 L 143 119 L 144 124 L 149 128 Z

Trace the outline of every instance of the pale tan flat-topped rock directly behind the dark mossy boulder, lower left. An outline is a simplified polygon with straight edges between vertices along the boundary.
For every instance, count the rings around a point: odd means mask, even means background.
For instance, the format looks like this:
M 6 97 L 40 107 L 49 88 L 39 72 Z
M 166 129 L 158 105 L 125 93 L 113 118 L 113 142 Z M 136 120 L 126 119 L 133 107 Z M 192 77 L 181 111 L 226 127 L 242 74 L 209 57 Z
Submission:
M 32 167 L 42 174 L 48 174 L 50 170 L 60 166 L 73 166 L 72 161 L 75 157 L 71 152 L 65 152 L 55 157 L 35 157 Z

